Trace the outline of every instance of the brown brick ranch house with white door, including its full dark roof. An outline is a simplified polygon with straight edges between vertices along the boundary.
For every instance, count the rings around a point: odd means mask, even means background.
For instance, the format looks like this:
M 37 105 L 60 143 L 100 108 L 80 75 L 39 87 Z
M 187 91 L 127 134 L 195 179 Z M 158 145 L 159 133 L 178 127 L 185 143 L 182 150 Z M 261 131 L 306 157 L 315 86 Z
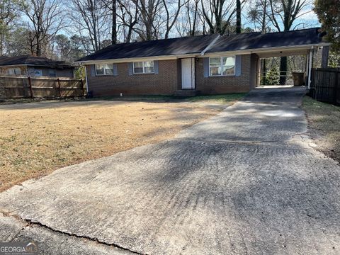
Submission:
M 319 28 L 278 33 L 198 35 L 111 45 L 78 62 L 94 96 L 246 92 L 258 84 L 263 57 L 307 55 L 322 42 Z M 310 77 L 310 75 L 309 75 Z

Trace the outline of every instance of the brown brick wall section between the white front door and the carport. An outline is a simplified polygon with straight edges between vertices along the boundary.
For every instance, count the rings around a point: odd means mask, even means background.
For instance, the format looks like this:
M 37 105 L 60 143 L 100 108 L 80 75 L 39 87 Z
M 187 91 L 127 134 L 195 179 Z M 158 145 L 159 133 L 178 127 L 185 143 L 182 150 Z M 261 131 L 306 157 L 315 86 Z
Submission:
M 204 77 L 203 58 L 196 62 L 196 89 L 203 95 L 248 92 L 250 86 L 250 55 L 242 55 L 241 75 Z

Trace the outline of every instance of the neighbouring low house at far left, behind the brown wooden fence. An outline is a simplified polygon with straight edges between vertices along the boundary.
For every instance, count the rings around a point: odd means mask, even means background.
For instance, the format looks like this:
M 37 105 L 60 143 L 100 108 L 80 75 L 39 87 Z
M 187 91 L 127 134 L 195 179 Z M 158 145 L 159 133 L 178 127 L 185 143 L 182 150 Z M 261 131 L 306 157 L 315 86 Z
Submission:
M 0 72 L 6 76 L 74 77 L 75 65 L 46 57 L 21 55 L 0 57 Z

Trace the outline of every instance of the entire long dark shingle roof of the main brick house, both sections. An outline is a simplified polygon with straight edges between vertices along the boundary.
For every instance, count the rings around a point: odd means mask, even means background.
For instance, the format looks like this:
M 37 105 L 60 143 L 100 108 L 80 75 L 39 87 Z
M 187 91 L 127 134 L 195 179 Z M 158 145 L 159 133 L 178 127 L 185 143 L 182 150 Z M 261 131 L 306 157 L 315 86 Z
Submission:
M 138 57 L 191 55 L 201 52 L 229 52 L 237 50 L 264 49 L 317 45 L 321 42 L 319 28 L 291 30 L 276 33 L 243 33 L 236 35 L 197 35 L 185 38 L 149 40 L 110 45 L 77 62 L 93 60 L 118 60 Z

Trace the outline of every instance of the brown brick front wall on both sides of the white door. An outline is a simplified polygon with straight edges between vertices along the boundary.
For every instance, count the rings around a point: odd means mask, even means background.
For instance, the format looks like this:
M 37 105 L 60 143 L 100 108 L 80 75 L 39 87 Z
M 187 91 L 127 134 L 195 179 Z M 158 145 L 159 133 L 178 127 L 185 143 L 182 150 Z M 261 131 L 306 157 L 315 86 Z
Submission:
M 128 63 L 118 63 L 117 76 L 91 76 L 86 68 L 89 91 L 94 96 L 172 95 L 181 89 L 181 60 L 159 60 L 159 74 L 129 75 Z M 203 58 L 196 61 L 196 90 L 200 94 L 227 94 L 247 92 L 254 87 L 251 74 L 251 55 L 242 55 L 239 77 L 204 77 Z

